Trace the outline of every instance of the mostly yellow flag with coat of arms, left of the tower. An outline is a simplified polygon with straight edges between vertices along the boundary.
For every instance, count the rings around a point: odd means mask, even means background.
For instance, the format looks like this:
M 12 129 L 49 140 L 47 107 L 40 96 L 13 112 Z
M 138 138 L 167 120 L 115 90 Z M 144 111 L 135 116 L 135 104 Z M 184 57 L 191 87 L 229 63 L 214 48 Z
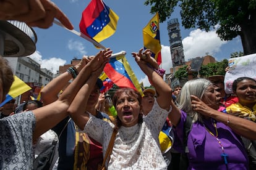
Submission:
M 158 65 L 161 64 L 161 44 L 159 31 L 159 15 L 158 12 L 151 18 L 150 22 L 143 28 L 143 44 L 144 49 L 150 49 Z

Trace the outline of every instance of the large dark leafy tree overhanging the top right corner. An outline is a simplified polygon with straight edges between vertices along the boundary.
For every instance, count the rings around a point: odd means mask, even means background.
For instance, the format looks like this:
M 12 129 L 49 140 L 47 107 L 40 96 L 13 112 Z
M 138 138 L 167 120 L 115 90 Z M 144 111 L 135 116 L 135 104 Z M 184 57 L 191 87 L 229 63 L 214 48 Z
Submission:
M 244 54 L 256 53 L 256 1 L 255 0 L 146 0 L 150 13 L 160 15 L 160 22 L 169 18 L 178 5 L 181 7 L 182 25 L 210 31 L 220 25 L 216 33 L 222 40 L 241 36 Z

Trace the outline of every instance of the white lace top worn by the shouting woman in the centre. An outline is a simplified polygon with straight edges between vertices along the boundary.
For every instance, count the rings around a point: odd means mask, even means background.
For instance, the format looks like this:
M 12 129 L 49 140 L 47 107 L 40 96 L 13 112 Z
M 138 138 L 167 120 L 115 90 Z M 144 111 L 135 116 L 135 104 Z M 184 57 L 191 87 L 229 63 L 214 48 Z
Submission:
M 160 108 L 155 100 L 142 124 L 121 126 L 114 141 L 108 169 L 166 169 L 158 135 L 169 111 Z M 103 145 L 104 156 L 113 132 L 113 124 L 90 115 L 83 131 Z

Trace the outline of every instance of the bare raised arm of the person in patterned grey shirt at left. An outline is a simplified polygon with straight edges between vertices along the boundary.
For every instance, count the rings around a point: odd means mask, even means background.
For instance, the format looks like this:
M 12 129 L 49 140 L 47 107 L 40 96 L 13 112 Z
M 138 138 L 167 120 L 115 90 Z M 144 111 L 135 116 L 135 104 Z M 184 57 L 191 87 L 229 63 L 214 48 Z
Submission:
M 102 60 L 108 59 L 107 57 L 109 57 L 109 53 L 109 50 L 100 51 L 93 59 L 96 61 L 92 63 L 100 62 L 100 58 L 102 58 Z M 69 84 L 62 95 L 60 95 L 59 99 L 56 100 L 56 102 L 33 110 L 33 113 L 36 117 L 36 127 L 35 131 L 33 132 L 34 140 L 41 136 L 41 134 L 44 132 L 48 131 L 48 129 L 51 129 L 56 124 L 58 124 L 62 119 L 66 118 L 68 115 L 67 109 L 69 108 L 70 104 L 74 100 L 81 87 L 88 80 L 92 71 L 95 71 L 93 70 L 95 66 L 91 62 L 89 63 L 83 67 L 77 78 L 75 78 L 74 81 Z

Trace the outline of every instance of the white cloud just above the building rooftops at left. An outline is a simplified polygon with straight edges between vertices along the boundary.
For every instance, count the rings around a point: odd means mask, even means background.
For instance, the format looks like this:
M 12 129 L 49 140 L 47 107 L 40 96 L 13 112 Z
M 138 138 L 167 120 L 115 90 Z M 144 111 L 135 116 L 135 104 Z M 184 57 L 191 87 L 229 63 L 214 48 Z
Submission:
M 50 59 L 42 59 L 42 55 L 39 51 L 36 51 L 32 55 L 29 55 L 31 59 L 35 60 L 36 62 L 40 63 L 41 68 L 46 68 L 48 70 L 51 70 L 53 73 L 57 73 L 59 70 L 59 66 L 62 66 L 66 63 L 66 60 L 52 57 Z

